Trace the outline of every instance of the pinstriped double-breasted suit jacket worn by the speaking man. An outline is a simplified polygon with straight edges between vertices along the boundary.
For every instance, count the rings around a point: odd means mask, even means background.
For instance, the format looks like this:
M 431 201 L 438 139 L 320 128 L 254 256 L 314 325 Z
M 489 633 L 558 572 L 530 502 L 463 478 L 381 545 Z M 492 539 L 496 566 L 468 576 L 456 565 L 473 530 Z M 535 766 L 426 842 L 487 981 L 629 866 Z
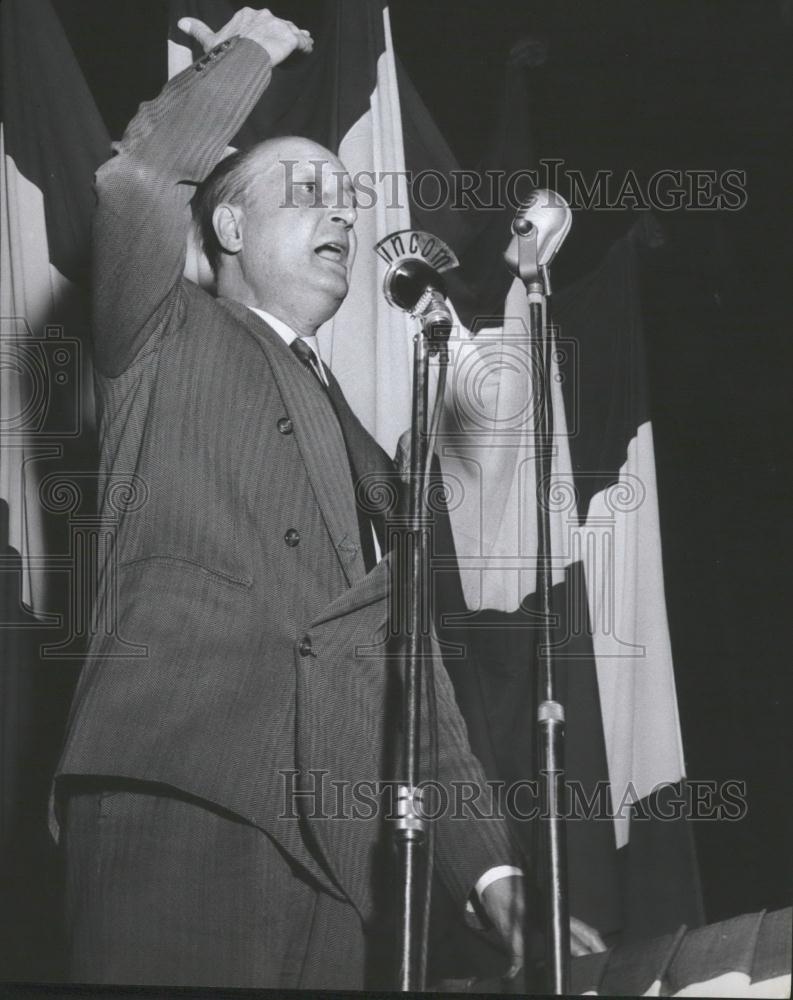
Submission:
M 183 277 L 190 182 L 269 78 L 263 49 L 224 42 L 141 106 L 97 174 L 101 474 L 105 487 L 134 474 L 145 496 L 120 515 L 103 567 L 103 627 L 58 774 L 146 779 L 219 804 L 367 918 L 381 821 L 295 819 L 284 774 L 390 776 L 388 563 L 365 573 L 344 442 L 316 380 L 251 310 Z M 482 781 L 442 668 L 437 686 L 441 775 Z M 513 860 L 491 821 L 441 821 L 438 857 L 461 902 Z

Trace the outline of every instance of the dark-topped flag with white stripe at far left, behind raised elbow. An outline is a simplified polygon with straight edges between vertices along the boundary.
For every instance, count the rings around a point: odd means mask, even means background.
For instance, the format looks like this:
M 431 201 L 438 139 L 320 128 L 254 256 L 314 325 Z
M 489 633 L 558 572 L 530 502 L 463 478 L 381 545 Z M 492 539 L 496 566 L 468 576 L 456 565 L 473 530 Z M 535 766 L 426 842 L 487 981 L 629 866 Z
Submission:
M 39 484 L 76 471 L 93 428 L 79 286 L 109 139 L 49 0 L 8 0 L 1 16 L 0 504 L 22 601 L 45 615 L 52 556 L 67 553 L 54 551 Z

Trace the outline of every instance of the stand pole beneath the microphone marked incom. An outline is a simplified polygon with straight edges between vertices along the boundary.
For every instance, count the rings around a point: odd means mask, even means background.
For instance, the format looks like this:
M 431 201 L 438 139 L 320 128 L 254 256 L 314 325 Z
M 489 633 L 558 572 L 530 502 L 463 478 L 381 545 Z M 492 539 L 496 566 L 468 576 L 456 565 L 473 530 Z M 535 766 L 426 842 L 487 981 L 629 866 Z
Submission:
M 394 839 L 400 880 L 400 960 L 398 989 L 412 992 L 426 989 L 429 864 L 431 829 L 422 811 L 421 789 L 421 692 L 426 679 L 433 683 L 429 639 L 430 611 L 429 559 L 430 518 L 427 504 L 428 482 L 428 385 L 429 359 L 445 352 L 444 331 L 432 315 L 420 317 L 422 332 L 413 338 L 413 402 L 410 438 L 408 516 L 394 561 L 393 592 L 400 609 L 400 658 L 404 664 L 403 687 L 403 767 L 406 781 L 397 790 L 397 819 Z M 436 407 L 440 400 L 436 401 Z M 433 689 L 434 690 L 434 689 Z M 430 697 L 430 726 L 432 699 Z M 430 733 L 432 747 L 435 734 Z M 431 749 L 431 755 L 433 750 Z

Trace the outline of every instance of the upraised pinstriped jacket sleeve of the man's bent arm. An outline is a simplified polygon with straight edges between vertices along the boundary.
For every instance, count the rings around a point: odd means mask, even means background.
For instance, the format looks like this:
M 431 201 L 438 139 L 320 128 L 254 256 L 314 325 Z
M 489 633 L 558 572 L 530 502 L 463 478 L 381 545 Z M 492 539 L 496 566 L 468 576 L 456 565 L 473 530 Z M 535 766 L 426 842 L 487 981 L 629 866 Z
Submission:
M 235 36 L 141 105 L 96 175 L 95 363 L 114 377 L 178 314 L 194 185 L 222 158 L 271 77 L 260 45 Z

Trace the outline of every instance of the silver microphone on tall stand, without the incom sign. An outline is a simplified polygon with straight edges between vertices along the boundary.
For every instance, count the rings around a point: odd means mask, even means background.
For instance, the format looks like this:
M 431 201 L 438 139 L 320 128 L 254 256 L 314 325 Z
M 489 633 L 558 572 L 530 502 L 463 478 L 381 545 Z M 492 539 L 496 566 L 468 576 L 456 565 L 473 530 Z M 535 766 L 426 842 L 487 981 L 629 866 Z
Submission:
M 553 327 L 547 317 L 549 264 L 570 229 L 572 213 L 552 191 L 535 191 L 519 210 L 504 259 L 526 286 L 529 335 L 534 355 L 534 463 L 537 482 L 537 598 L 542 616 L 537 639 L 537 733 L 542 790 L 546 910 L 546 975 L 551 993 L 570 991 L 570 909 L 564 820 L 564 706 L 557 700 L 552 656 L 552 545 L 549 506 L 553 455 Z

